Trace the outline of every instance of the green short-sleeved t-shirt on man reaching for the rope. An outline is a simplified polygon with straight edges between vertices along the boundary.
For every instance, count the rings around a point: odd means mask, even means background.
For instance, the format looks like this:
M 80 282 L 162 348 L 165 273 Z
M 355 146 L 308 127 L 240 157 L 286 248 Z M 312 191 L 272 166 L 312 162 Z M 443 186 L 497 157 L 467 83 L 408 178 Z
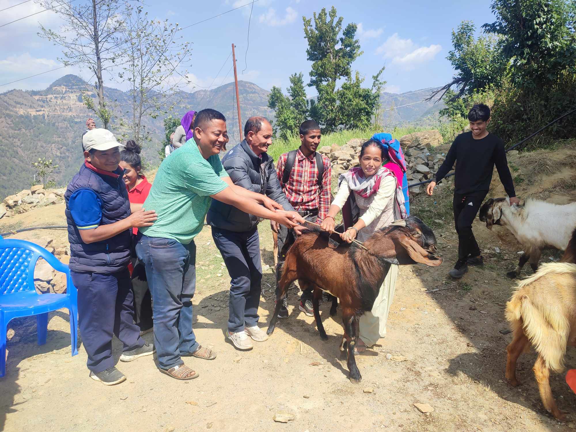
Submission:
M 166 157 L 154 178 L 146 210 L 155 210 L 154 225 L 139 228 L 149 237 L 173 238 L 189 244 L 202 230 L 212 198 L 228 187 L 228 173 L 218 155 L 202 157 L 194 140 L 189 140 Z

